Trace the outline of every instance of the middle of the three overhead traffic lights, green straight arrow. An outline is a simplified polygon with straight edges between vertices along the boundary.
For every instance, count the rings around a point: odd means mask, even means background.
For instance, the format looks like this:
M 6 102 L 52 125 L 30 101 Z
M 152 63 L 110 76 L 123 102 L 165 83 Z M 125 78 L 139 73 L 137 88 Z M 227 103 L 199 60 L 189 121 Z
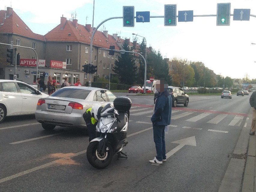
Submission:
M 164 26 L 176 26 L 177 5 L 164 5 Z

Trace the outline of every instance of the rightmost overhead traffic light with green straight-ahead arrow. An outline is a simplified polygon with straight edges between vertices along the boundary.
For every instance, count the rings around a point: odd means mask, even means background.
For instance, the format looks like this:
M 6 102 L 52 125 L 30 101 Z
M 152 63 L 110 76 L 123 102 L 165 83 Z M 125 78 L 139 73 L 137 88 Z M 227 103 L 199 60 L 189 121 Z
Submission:
M 230 3 L 217 4 L 217 26 L 230 25 Z

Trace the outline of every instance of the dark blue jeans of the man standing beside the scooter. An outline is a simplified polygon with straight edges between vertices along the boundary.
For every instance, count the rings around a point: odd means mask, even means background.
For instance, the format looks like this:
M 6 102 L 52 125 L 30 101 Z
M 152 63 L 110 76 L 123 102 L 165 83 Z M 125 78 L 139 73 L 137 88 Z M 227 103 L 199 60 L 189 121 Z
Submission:
M 153 125 L 154 142 L 157 150 L 157 160 L 166 159 L 165 140 L 164 140 L 164 125 Z

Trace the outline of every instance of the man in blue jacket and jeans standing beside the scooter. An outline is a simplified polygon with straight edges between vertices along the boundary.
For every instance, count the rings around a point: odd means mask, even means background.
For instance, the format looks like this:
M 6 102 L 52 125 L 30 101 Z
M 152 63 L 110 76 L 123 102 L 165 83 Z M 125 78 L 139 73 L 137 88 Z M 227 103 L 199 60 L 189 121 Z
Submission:
M 157 96 L 154 114 L 151 117 L 153 123 L 153 136 L 156 146 L 157 156 L 150 163 L 162 164 L 166 162 L 164 129 L 171 123 L 172 97 L 167 91 L 168 84 L 165 80 L 156 81 Z

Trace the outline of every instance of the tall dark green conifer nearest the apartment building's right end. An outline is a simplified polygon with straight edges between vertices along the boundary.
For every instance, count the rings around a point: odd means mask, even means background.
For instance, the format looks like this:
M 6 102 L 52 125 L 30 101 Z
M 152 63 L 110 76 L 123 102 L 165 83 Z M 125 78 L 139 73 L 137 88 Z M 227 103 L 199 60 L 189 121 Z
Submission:
M 131 51 L 128 43 L 128 39 L 126 39 L 122 47 L 126 51 Z M 132 85 L 137 78 L 137 66 L 133 55 L 131 53 L 120 54 L 118 60 L 115 61 L 113 71 L 119 75 L 121 83 Z

